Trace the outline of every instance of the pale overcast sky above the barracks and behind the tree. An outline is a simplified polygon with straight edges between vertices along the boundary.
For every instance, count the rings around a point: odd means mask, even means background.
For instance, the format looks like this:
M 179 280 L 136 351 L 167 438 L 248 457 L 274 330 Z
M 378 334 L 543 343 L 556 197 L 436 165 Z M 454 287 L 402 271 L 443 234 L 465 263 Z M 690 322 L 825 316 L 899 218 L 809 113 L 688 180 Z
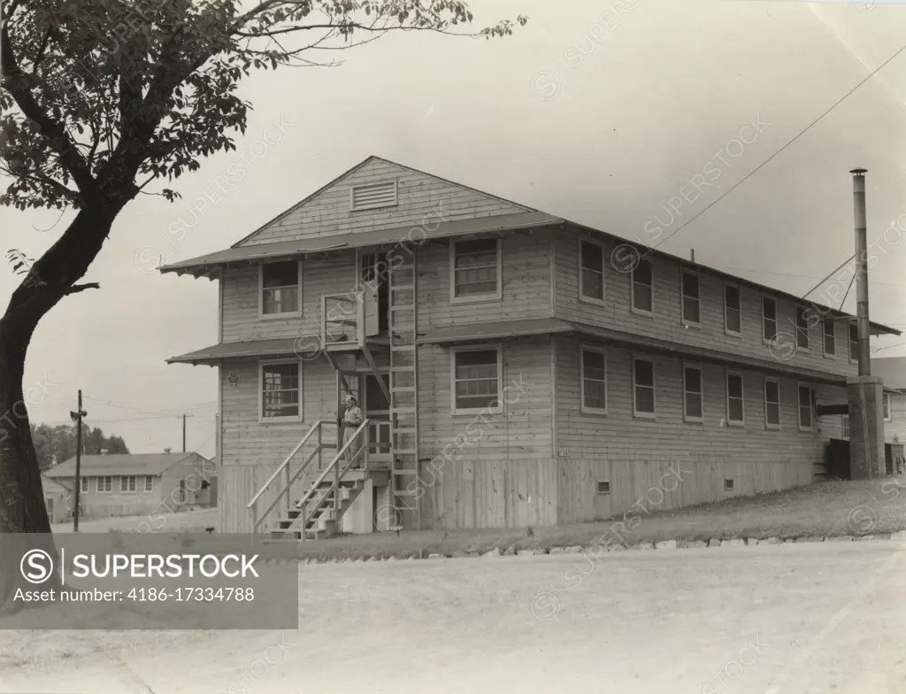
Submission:
M 621 5 L 634 9 L 618 15 Z M 472 6 L 479 23 L 516 14 L 530 22 L 492 42 L 392 34 L 346 53 L 341 67 L 246 80 L 255 104 L 237 142 L 246 159 L 203 161 L 178 179 L 175 204 L 133 202 L 85 278 L 101 290 L 69 297 L 43 319 L 25 373 L 33 421 L 68 421 L 81 388 L 86 421 L 123 436 L 132 452 L 178 450 L 177 415 L 186 412 L 188 448 L 213 455 L 216 371 L 164 360 L 217 342 L 217 284 L 159 275 L 144 259 L 231 246 L 371 154 L 677 255 L 695 248 L 700 263 L 797 294 L 853 254 L 850 169 L 869 169 L 870 243 L 898 217 L 906 230 L 906 55 L 834 107 L 906 46 L 906 6 Z M 749 123 L 757 130 L 744 130 Z M 231 164 L 242 181 L 199 213 L 198 200 Z M 687 192 L 692 202 L 678 198 L 702 177 L 713 185 Z M 57 217 L 0 209 L 2 250 L 40 255 L 71 218 Z M 172 233 L 178 228 L 186 232 Z M 899 236 L 877 246 L 872 320 L 906 330 Z M 16 282 L 8 266 L 0 271 L 0 294 Z M 832 284 L 811 296 L 826 303 L 843 294 Z M 851 312 L 854 294 L 844 306 Z M 900 342 L 906 337 L 873 344 L 894 345 L 878 356 L 906 355 Z

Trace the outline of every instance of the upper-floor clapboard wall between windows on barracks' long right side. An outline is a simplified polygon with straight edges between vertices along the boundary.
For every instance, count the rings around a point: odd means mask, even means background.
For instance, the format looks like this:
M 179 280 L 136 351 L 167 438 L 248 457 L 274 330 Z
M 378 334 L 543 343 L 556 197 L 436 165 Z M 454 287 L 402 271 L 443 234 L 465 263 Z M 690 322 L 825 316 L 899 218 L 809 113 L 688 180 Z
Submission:
M 699 274 L 701 327 L 684 327 L 680 313 L 681 263 L 679 260 L 657 255 L 651 256 L 654 274 L 654 315 L 639 315 L 631 312 L 631 275 L 615 269 L 610 258 L 617 245 L 605 241 L 603 242 L 605 304 L 589 304 L 580 301 L 579 237 L 579 232 L 568 227 L 556 237 L 554 249 L 556 317 L 754 359 L 772 359 L 768 345 L 762 340 L 761 300 L 763 293 L 742 282 L 738 283 L 742 299 L 742 337 L 728 335 L 725 332 L 724 278 L 707 272 Z M 596 235 L 594 238 L 600 240 L 601 236 Z M 795 338 L 793 301 L 779 294 L 768 293 L 767 295 L 776 299 L 777 302 L 777 330 L 786 333 L 791 339 Z M 785 363 L 789 366 L 816 371 L 828 371 L 847 376 L 856 375 L 858 369 L 849 361 L 847 323 L 837 321 L 834 326 L 836 338 L 836 356 L 834 358 L 824 356 L 823 327 L 819 324 L 809 331 L 810 351 L 796 352 Z

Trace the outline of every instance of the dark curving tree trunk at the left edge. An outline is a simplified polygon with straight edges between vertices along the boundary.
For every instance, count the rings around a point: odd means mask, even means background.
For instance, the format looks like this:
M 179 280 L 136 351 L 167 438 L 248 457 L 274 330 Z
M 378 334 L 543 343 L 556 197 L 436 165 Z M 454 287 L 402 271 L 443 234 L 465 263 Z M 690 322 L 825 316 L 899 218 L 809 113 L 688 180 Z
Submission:
M 63 236 L 34 263 L 0 318 L 0 534 L 41 533 L 43 537 L 19 538 L 19 544 L 41 548 L 53 557 L 50 520 L 23 396 L 25 354 L 43 316 L 64 296 L 85 288 L 74 283 L 88 270 L 110 233 L 113 219 L 132 197 L 134 193 L 111 195 L 97 207 L 82 208 Z M 14 538 L 0 535 L 0 545 L 11 547 L 15 543 Z M 17 588 L 35 590 L 53 585 L 27 583 L 20 558 L 0 558 L 0 613 L 40 606 L 14 601 Z

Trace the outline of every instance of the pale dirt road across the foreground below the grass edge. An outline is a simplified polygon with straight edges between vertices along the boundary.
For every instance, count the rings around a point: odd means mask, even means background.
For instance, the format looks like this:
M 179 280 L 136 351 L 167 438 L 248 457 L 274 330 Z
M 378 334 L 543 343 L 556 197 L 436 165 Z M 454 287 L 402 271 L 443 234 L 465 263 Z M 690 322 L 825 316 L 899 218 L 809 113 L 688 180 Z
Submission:
M 0 651 L 32 650 L 0 691 L 906 692 L 906 543 L 327 564 L 300 580 L 299 631 L 137 633 L 87 658 L 84 632 L 0 633 Z

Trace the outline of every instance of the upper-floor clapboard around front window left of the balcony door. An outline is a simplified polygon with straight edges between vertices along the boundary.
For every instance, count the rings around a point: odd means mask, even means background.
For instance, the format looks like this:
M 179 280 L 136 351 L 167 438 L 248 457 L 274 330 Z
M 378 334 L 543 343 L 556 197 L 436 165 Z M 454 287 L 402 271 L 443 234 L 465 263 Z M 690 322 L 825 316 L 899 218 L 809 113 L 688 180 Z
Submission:
M 275 338 L 321 337 L 321 297 L 347 294 L 356 288 L 353 251 L 303 261 L 302 317 L 262 318 L 258 265 L 226 268 L 223 273 L 222 342 Z M 307 342 L 306 342 L 307 343 Z

